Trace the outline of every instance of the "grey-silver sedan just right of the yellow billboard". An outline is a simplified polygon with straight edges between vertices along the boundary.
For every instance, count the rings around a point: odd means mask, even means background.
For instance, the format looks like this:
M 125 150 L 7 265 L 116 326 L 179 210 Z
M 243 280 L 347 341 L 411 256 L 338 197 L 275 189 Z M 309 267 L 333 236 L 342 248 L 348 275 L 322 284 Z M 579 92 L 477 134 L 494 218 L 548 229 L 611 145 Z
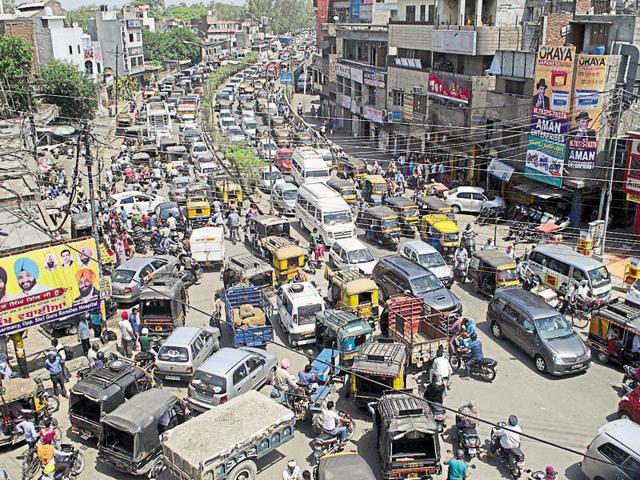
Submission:
M 143 279 L 149 273 L 157 275 L 164 272 L 177 272 L 179 269 L 180 263 L 172 255 L 133 257 L 111 274 L 111 296 L 118 303 L 137 302 Z

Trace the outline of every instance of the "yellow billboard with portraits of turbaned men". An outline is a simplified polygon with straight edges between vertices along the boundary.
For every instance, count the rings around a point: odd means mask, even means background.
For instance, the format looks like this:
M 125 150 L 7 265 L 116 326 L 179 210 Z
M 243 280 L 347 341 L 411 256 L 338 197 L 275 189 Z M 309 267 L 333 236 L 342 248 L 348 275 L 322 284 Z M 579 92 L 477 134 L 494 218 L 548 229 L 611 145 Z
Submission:
M 99 308 L 93 239 L 0 258 L 0 334 Z

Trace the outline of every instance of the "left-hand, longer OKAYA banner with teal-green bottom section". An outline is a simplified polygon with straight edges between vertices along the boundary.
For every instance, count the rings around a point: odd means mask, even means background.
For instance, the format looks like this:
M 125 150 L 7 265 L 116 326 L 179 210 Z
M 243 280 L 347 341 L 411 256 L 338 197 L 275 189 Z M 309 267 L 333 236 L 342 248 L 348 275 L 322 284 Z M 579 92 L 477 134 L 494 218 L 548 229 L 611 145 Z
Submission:
M 531 131 L 524 175 L 562 185 L 567 153 L 575 47 L 542 46 L 536 57 Z

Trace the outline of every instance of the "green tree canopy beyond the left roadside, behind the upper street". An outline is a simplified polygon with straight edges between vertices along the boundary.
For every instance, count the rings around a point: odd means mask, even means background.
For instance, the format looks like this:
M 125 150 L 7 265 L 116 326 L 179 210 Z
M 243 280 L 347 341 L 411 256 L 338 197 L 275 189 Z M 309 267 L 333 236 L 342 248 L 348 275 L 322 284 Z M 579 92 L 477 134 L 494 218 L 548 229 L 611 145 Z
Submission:
M 184 41 L 192 43 L 183 43 Z M 200 59 L 200 39 L 189 28 L 173 28 L 166 32 L 142 31 L 144 57 L 151 62 L 168 62 L 189 59 L 197 63 Z

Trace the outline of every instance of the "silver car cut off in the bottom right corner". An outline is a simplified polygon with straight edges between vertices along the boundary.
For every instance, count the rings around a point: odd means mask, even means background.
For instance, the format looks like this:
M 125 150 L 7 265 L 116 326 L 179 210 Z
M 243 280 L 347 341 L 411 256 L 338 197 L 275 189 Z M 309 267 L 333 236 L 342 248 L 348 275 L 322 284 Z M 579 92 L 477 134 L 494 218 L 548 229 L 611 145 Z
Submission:
M 581 467 L 589 480 L 640 478 L 640 425 L 623 419 L 600 427 L 587 447 Z

